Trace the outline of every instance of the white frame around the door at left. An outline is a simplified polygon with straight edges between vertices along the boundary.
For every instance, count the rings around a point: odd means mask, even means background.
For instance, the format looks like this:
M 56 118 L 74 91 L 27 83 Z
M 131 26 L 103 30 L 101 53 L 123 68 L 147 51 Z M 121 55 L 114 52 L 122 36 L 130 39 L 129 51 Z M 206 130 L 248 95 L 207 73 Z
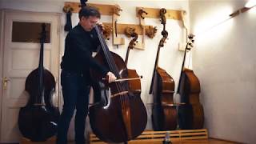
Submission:
M 2 97 L 3 97 L 3 94 L 4 94 L 4 90 L 3 90 L 3 87 L 2 87 L 2 84 L 3 84 L 3 54 L 4 54 L 4 43 L 5 43 L 5 30 L 4 30 L 4 26 L 5 26 L 5 18 L 6 18 L 6 13 L 8 12 L 16 12 L 16 13 L 23 13 L 23 14 L 52 14 L 54 16 L 57 17 L 58 19 L 58 23 L 57 23 L 57 39 L 55 39 L 56 41 L 56 49 L 58 49 L 57 53 L 58 55 L 56 55 L 58 57 L 58 68 L 57 69 L 57 74 L 56 74 L 56 77 L 55 77 L 55 82 L 56 82 L 56 92 L 55 94 L 57 95 L 57 101 L 55 102 L 55 104 L 59 107 L 60 106 L 60 93 L 59 93 L 59 86 L 60 86 L 60 68 L 59 68 L 59 65 L 60 65 L 60 59 L 61 59 L 61 52 L 62 52 L 62 41 L 61 41 L 61 38 L 62 38 L 62 34 L 63 34 L 63 31 L 62 31 L 62 13 L 57 13 L 57 12 L 36 12 L 36 11 L 26 11 L 26 10 L 12 10 L 12 9 L 0 9 L 0 143 L 2 142 L 2 134 L 1 134 L 1 131 L 2 131 Z

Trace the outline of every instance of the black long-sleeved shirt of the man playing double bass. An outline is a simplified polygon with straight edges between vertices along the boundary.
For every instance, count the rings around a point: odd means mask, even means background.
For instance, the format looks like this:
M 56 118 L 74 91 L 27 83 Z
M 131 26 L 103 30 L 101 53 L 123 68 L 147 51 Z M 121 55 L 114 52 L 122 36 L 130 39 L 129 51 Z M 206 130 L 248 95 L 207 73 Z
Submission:
M 99 40 L 95 29 L 89 32 L 84 30 L 80 24 L 74 26 L 66 35 L 62 70 L 82 73 L 89 78 L 91 68 L 106 75 L 108 70 L 92 57 L 92 52 L 96 51 L 98 46 Z

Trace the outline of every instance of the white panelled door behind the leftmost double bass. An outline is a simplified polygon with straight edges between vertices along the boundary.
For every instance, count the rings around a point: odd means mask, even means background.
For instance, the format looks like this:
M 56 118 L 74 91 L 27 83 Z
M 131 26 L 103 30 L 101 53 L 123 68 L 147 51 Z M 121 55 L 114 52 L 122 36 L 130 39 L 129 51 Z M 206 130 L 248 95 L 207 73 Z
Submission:
M 14 26 L 27 23 L 46 22 L 50 25 L 50 42 L 44 44 L 44 66 L 54 74 L 58 86 L 59 70 L 59 30 L 60 15 L 56 13 L 25 12 L 20 10 L 2 11 L 3 39 L 0 42 L 0 56 L 2 62 L 2 97 L 1 97 L 1 139 L 0 142 L 19 142 L 21 134 L 18 130 L 18 112 L 20 107 L 26 106 L 30 95 L 25 91 L 26 77 L 38 67 L 40 43 L 20 42 L 15 40 L 23 34 L 14 32 Z M 1 26 L 1 25 L 0 25 Z M 16 28 L 17 29 L 17 28 Z M 41 31 L 41 30 L 39 30 Z M 38 34 L 38 38 L 40 35 Z M 1 68 L 1 66 L 0 66 Z M 6 83 L 6 86 L 5 86 Z M 57 89 L 58 90 L 58 89 Z M 58 103 L 58 93 L 54 96 L 54 105 Z

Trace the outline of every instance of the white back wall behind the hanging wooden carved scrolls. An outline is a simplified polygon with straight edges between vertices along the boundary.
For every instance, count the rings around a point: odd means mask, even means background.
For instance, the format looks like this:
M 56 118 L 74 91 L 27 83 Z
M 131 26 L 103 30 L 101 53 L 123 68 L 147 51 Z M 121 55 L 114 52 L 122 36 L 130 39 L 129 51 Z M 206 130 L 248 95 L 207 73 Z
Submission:
M 40 11 L 40 12 L 57 12 L 62 13 L 62 7 L 64 6 L 64 0 L 0 0 L 0 8 L 8 8 L 15 10 L 28 10 L 28 11 Z M 79 2 L 78 0 L 69 2 Z M 136 6 L 145 6 L 151 8 L 166 8 L 170 10 L 186 10 L 188 12 L 188 0 L 115 0 L 115 1 L 98 1 L 98 0 L 89 0 L 91 3 L 105 3 L 105 4 L 118 4 L 122 8 L 121 16 L 118 18 L 118 23 L 132 23 L 138 24 L 138 18 L 135 17 Z M 162 25 L 159 19 L 157 18 L 146 18 L 146 25 L 157 26 L 158 33 L 154 39 L 146 37 L 146 50 L 131 50 L 130 57 L 128 62 L 128 68 L 136 69 L 139 75 L 142 75 L 142 101 L 147 106 L 148 110 L 148 125 L 146 129 L 151 129 L 151 103 L 152 95 L 149 94 L 150 82 L 154 69 L 154 61 L 156 57 L 156 52 L 158 48 L 159 40 L 162 38 L 161 31 Z M 63 27 L 66 22 L 66 15 L 62 13 L 62 35 L 61 35 L 61 55 L 63 54 L 64 49 L 64 38 L 66 33 L 63 31 Z M 73 26 L 78 23 L 78 14 L 72 15 Z M 102 22 L 111 22 L 111 17 L 102 16 Z M 176 89 L 178 86 L 178 78 L 182 66 L 182 56 L 183 52 L 178 51 L 178 43 L 185 42 L 184 38 L 184 29 L 182 28 L 182 22 L 176 20 L 167 19 L 166 21 L 166 30 L 169 32 L 169 40 L 166 41 L 165 46 L 161 49 L 160 58 L 158 65 L 165 69 L 168 74 L 170 74 L 174 81 L 176 82 Z M 120 35 L 123 38 L 126 38 L 125 35 Z M 186 36 L 185 36 L 186 37 Z M 140 39 L 138 39 L 140 41 Z M 110 50 L 119 54 L 122 58 L 126 56 L 126 49 L 130 38 L 126 38 L 126 43 L 124 46 L 119 46 L 119 49 L 116 46 L 112 46 L 112 40 L 110 39 L 108 46 Z M 191 62 L 190 62 L 191 63 Z M 71 126 L 73 129 L 73 126 Z M 73 132 L 73 131 L 72 131 Z M 73 138 L 73 137 L 72 137 Z

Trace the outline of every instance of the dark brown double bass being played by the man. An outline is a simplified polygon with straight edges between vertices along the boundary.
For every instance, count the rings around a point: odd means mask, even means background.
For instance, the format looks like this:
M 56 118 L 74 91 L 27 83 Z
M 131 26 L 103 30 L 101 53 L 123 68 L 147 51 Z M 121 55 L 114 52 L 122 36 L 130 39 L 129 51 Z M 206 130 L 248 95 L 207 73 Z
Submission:
M 126 63 L 118 54 L 110 52 L 98 26 L 96 32 L 102 49 L 95 58 L 118 79 L 107 83 L 102 81 L 103 75 L 91 70 L 91 78 L 97 83 L 93 86 L 94 97 L 104 100 L 90 106 L 90 126 L 94 134 L 104 142 L 127 142 L 142 134 L 145 129 L 146 108 L 142 99 L 129 89 Z

